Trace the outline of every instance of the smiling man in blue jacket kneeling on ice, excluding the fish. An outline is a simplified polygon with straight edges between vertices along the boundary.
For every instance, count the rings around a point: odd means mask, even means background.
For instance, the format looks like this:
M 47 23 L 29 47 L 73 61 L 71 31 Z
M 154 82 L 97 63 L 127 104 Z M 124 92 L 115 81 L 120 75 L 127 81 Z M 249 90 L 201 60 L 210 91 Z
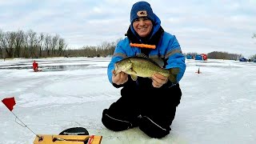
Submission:
M 111 84 L 122 87 L 122 97 L 109 109 L 103 110 L 102 123 L 114 131 L 138 126 L 151 138 L 163 138 L 170 134 L 176 107 L 182 97 L 178 82 L 186 70 L 185 57 L 178 40 L 162 29 L 160 19 L 148 2 L 136 2 L 132 6 L 126 36 L 118 42 L 107 70 Z M 172 78 L 160 71 L 150 78 L 141 77 L 135 68 L 131 68 L 130 73 L 115 72 L 117 62 L 138 54 L 160 59 L 163 69 L 178 71 L 170 74 Z M 145 72 L 148 70 L 150 67 Z M 134 78 L 136 74 L 138 77 Z

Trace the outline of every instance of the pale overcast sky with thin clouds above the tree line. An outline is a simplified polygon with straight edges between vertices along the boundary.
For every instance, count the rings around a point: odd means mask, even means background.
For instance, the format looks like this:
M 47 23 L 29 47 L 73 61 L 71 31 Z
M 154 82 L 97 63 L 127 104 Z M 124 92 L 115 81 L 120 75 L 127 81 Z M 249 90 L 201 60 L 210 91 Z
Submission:
M 59 34 L 69 47 L 124 38 L 134 0 L 0 0 L 0 30 Z M 256 54 L 256 0 L 148 0 L 182 51 Z

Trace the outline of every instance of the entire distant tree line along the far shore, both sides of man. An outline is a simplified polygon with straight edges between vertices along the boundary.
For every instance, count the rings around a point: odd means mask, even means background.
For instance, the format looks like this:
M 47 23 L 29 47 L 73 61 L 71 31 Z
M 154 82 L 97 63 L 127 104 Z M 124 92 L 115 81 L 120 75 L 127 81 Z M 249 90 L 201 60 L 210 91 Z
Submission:
M 256 38 L 256 34 L 252 36 Z M 37 34 L 33 30 L 26 32 L 3 32 L 0 30 L 0 58 L 47 58 L 47 57 L 106 57 L 114 54 L 116 42 L 102 42 L 100 46 L 82 46 L 78 50 L 68 49 L 64 38 L 58 34 Z M 195 57 L 196 52 L 187 53 Z M 208 58 L 238 60 L 242 54 L 213 51 Z M 250 57 L 255 59 L 256 54 Z

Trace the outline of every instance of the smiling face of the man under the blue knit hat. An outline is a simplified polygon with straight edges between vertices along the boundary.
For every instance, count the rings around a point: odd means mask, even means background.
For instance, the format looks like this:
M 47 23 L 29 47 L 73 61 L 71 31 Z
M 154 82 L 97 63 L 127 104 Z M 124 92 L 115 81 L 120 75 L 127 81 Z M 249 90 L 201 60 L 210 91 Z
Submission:
M 153 23 L 149 18 L 136 18 L 133 22 L 134 30 L 137 34 L 144 38 L 150 34 L 150 31 L 153 28 Z

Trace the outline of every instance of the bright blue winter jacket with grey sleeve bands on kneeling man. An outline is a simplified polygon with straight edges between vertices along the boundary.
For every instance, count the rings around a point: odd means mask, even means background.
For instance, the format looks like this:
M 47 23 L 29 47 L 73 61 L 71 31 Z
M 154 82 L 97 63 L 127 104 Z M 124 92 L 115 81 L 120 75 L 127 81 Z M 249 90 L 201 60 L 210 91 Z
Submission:
M 151 37 L 160 29 L 161 21 L 160 19 L 155 16 L 155 22 L 153 26 L 153 33 Z M 135 34 L 134 28 L 132 24 L 130 25 L 131 31 Z M 118 42 L 117 46 L 115 47 L 113 57 L 110 61 L 110 64 L 107 69 L 107 74 L 109 81 L 112 82 L 112 70 L 114 70 L 114 63 L 122 60 L 126 57 L 135 56 L 141 53 L 141 48 L 138 47 L 131 47 L 130 46 L 130 39 L 124 38 Z M 182 76 L 186 70 L 185 64 L 185 56 L 182 54 L 181 47 L 178 43 L 176 37 L 172 34 L 167 32 L 163 32 L 162 37 L 160 38 L 156 49 L 150 50 L 149 58 L 163 58 L 166 60 L 166 69 L 178 67 L 179 73 L 177 75 L 177 82 L 182 79 Z M 171 83 L 171 86 L 175 85 L 175 83 Z

